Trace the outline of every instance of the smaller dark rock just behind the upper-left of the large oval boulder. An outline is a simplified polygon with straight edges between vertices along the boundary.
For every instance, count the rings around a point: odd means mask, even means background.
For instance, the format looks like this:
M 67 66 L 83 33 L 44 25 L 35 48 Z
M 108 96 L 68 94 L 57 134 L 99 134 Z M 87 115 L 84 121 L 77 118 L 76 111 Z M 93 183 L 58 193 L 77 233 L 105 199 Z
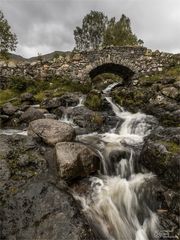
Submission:
M 36 108 L 28 108 L 20 117 L 21 122 L 30 123 L 33 120 L 44 118 L 44 114 Z

